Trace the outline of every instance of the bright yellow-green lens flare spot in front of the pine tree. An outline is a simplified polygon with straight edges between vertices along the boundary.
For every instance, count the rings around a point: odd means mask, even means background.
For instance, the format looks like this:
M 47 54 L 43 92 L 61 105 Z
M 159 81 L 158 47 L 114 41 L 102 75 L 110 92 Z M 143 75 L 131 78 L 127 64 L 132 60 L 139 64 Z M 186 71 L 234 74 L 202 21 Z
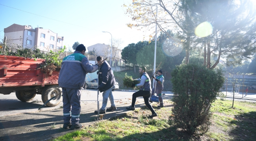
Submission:
M 203 22 L 197 25 L 195 29 L 195 34 L 198 37 L 206 37 L 206 36 L 209 36 L 211 33 L 212 33 L 212 26 L 209 22 Z

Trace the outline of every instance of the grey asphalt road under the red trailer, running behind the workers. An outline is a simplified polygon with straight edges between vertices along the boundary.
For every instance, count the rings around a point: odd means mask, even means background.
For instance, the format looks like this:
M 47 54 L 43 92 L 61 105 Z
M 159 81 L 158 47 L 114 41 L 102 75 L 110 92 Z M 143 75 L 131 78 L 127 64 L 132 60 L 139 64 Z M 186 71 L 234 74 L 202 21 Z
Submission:
M 129 91 L 120 91 L 115 90 L 113 91 L 113 96 L 115 100 L 120 99 L 129 99 L 132 98 L 132 94 L 134 92 Z M 168 93 L 168 94 L 167 94 Z M 166 93 L 166 98 L 171 97 L 171 92 Z M 102 93 L 99 95 L 100 101 L 102 101 Z M 132 101 L 132 100 L 130 100 Z M 81 104 L 89 104 L 95 103 L 97 107 L 97 91 L 93 89 L 84 90 L 81 96 Z M 110 103 L 110 101 L 109 101 Z M 29 102 L 22 102 L 16 98 L 15 93 L 11 93 L 9 95 L 0 94 L 0 117 L 1 116 L 8 116 L 13 114 L 19 113 L 26 113 L 26 112 L 35 112 L 38 111 L 38 108 L 43 105 L 41 95 L 37 94 L 32 101 Z M 63 103 L 59 103 L 56 107 L 43 107 L 43 110 L 54 110 L 58 109 L 59 107 L 63 106 Z M 96 109 L 95 109 L 96 110 Z

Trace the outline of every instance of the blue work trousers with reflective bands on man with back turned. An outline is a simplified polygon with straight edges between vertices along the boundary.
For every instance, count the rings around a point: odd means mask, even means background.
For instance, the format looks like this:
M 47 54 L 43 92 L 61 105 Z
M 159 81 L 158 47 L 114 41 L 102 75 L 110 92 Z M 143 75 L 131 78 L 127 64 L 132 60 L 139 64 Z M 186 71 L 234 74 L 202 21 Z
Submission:
M 70 89 L 62 87 L 64 123 L 71 123 L 72 125 L 79 124 L 79 116 L 81 111 L 80 98 L 81 89 Z

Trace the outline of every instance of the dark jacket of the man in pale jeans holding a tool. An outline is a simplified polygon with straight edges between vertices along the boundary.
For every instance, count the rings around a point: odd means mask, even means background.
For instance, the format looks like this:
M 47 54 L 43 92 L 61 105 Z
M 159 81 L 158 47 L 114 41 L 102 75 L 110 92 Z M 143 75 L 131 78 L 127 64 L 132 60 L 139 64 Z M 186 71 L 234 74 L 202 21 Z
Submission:
M 99 88 L 100 92 L 104 92 L 115 85 L 114 74 L 107 61 L 104 61 L 99 70 Z

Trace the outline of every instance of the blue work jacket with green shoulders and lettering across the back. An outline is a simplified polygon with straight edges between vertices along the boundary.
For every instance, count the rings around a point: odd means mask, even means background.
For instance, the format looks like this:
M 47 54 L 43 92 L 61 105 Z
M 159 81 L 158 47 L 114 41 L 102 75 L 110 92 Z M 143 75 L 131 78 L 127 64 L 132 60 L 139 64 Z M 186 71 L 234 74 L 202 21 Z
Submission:
M 75 51 L 62 61 L 58 80 L 59 86 L 80 89 L 85 84 L 86 74 L 97 70 L 97 65 L 90 65 L 86 56 L 79 51 Z

